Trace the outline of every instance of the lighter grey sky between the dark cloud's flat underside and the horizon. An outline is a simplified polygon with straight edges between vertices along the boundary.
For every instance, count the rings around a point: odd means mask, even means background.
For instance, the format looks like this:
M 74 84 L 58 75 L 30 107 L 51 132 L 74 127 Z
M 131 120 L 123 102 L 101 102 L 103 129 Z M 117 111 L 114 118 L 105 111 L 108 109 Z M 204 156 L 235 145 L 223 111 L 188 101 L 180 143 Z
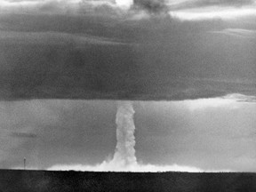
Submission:
M 22 168 L 26 157 L 30 169 L 95 171 L 114 156 L 115 100 L 2 101 L 0 106 L 1 168 Z M 177 164 L 178 171 L 187 166 L 185 171 L 255 172 L 255 102 L 134 101 L 133 108 L 138 163 L 162 171 Z

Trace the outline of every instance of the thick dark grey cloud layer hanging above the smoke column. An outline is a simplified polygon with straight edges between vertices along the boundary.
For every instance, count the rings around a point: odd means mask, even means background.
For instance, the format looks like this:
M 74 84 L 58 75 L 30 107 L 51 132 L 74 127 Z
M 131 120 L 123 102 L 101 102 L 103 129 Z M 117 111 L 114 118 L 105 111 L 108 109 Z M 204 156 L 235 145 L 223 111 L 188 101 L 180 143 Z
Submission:
M 161 1 L 135 4 L 150 12 L 164 9 Z M 239 23 L 95 12 L 3 13 L 0 99 L 185 100 L 233 92 L 255 95 L 256 41 L 223 34 L 226 28 L 240 28 Z M 254 30 L 250 23 L 243 29 Z

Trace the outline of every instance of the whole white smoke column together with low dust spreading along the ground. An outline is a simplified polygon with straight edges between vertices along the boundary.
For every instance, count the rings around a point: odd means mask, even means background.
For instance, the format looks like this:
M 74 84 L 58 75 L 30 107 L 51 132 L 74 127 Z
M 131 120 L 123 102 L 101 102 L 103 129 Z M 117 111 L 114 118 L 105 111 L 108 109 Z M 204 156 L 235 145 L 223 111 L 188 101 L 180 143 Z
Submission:
M 202 172 L 196 167 L 180 166 L 177 164 L 159 166 L 153 164 L 138 164 L 135 156 L 135 124 L 133 115 L 135 111 L 132 101 L 117 101 L 116 111 L 116 151 L 112 159 L 102 164 L 90 165 L 63 165 L 56 164 L 49 170 L 77 170 L 93 172 Z

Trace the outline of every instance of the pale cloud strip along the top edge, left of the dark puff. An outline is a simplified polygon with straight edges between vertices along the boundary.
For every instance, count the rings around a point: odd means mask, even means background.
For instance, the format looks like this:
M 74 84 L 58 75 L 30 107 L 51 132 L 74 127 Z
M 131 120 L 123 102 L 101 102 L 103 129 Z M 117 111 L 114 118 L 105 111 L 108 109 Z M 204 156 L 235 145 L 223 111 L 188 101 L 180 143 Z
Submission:
M 35 1 L 10 1 L 1 0 L 1 12 L 15 13 L 49 13 L 49 14 L 85 14 L 98 12 L 99 14 L 113 14 L 121 12 L 122 6 L 116 1 L 87 1 L 87 0 L 35 0 Z M 100 12 L 99 12 L 100 11 Z

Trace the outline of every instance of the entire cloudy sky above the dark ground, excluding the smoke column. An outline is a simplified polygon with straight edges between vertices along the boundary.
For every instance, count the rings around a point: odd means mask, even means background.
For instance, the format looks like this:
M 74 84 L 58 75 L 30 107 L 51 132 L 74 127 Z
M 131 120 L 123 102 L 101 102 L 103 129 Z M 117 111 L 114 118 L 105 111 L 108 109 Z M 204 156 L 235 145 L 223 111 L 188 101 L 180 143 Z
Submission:
M 254 0 L 0 0 L 0 12 L 0 168 L 96 170 L 115 154 L 116 100 L 133 100 L 139 164 L 255 172 Z

